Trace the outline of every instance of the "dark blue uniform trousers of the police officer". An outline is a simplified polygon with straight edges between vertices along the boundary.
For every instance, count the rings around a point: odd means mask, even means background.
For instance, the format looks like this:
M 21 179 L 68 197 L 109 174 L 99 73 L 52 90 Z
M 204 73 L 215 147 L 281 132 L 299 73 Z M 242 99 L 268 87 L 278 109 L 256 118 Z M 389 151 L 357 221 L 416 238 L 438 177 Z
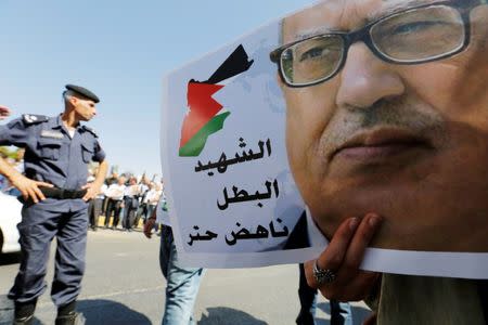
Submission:
M 76 299 L 81 289 L 87 246 L 87 204 L 81 199 L 44 202 L 22 209 L 22 262 L 9 298 L 28 302 L 42 295 L 51 242 L 56 256 L 51 298 L 60 307 Z M 60 210 L 64 212 L 60 212 Z

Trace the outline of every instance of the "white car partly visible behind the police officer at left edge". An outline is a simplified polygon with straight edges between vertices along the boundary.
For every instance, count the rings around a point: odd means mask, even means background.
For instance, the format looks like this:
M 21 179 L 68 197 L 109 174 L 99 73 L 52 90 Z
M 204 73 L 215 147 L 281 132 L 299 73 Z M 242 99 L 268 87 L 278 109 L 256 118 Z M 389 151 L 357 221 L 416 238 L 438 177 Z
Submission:
M 15 196 L 0 192 L 0 252 L 21 251 L 17 223 L 21 222 L 22 204 Z

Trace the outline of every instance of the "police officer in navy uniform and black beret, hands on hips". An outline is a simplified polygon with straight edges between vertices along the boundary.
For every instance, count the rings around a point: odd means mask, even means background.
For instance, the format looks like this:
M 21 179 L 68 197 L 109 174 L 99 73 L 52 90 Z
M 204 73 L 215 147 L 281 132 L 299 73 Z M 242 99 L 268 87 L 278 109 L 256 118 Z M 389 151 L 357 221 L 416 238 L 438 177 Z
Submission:
M 67 84 L 65 108 L 55 117 L 23 115 L 0 126 L 0 145 L 25 147 L 25 174 L 0 158 L 0 173 L 22 193 L 22 262 L 9 298 L 15 301 L 14 324 L 33 324 L 37 299 L 46 290 L 49 248 L 56 237 L 51 297 L 55 324 L 75 324 L 76 298 L 85 271 L 87 202 L 97 196 L 107 162 L 95 132 L 80 125 L 95 115 L 99 98 Z M 88 162 L 99 161 L 95 180 L 87 184 Z

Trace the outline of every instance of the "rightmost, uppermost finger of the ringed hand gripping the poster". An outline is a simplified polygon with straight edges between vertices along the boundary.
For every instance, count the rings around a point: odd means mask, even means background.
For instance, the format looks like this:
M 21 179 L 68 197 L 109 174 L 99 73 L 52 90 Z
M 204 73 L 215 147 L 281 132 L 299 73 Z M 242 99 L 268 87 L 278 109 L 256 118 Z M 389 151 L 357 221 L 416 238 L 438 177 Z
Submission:
M 361 265 L 364 250 L 380 227 L 382 219 L 376 213 L 368 213 L 358 226 L 344 259 L 342 272 L 356 272 Z

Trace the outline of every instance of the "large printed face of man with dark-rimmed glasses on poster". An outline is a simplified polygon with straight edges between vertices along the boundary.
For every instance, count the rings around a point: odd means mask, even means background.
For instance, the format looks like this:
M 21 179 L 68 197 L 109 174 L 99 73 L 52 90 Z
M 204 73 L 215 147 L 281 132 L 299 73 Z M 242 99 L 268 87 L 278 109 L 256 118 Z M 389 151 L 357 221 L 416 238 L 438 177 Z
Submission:
M 290 165 L 324 235 L 377 212 L 373 246 L 488 251 L 488 6 L 325 0 L 282 42 Z

